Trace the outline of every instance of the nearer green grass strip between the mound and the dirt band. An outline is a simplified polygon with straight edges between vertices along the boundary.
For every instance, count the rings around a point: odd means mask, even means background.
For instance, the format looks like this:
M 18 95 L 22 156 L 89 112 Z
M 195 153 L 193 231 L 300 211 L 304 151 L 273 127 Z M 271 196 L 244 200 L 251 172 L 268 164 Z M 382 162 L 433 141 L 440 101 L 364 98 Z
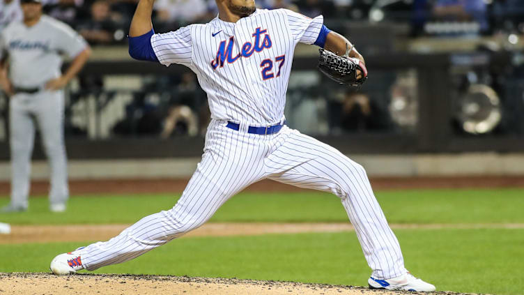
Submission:
M 438 290 L 522 294 L 524 229 L 401 229 L 406 267 Z M 0 272 L 43 271 L 84 243 L 0 245 Z M 183 238 L 97 273 L 148 273 L 366 285 L 354 233 Z

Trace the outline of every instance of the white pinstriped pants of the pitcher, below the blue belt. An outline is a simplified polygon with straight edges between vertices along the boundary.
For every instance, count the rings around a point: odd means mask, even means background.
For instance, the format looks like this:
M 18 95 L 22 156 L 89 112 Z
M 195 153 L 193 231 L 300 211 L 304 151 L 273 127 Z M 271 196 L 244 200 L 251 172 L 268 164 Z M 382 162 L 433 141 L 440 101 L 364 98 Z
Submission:
M 88 245 L 81 252 L 86 269 L 128 261 L 182 236 L 203 225 L 230 197 L 269 178 L 337 195 L 355 226 L 373 277 L 406 273 L 399 242 L 361 165 L 287 126 L 275 135 L 253 135 L 242 132 L 247 126 L 236 131 L 225 125 L 210 123 L 202 160 L 173 209 L 142 218 L 107 242 Z

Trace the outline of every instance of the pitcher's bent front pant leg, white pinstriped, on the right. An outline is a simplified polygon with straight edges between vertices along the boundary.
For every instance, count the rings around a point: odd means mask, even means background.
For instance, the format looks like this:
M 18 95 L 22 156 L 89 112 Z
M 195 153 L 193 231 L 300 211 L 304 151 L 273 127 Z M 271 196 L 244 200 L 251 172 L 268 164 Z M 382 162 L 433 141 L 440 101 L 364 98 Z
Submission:
M 318 140 L 292 130 L 286 142 L 264 159 L 269 179 L 337 195 L 355 232 L 373 278 L 406 273 L 399 242 L 371 190 L 364 167 Z

